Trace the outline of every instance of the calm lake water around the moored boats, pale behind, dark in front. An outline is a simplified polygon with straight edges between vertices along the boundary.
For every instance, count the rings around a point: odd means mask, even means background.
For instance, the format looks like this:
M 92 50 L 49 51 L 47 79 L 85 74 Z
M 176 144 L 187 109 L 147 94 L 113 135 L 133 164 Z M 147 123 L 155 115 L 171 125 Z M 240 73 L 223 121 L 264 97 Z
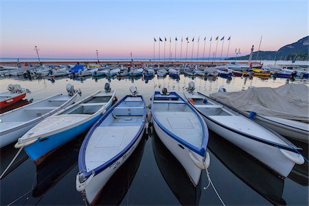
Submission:
M 111 88 L 116 89 L 118 99 L 128 94 L 130 86 L 137 86 L 139 94 L 150 103 L 155 90 L 163 87 L 168 91 L 182 93 L 192 78 L 181 76 L 180 80 L 169 77 L 145 80 L 112 79 Z M 239 91 L 249 86 L 279 87 L 285 79 L 272 78 L 194 78 L 196 90 L 203 93 Z M 82 98 L 104 88 L 106 78 L 94 80 L 24 80 L 3 78 L 1 91 L 8 84 L 21 84 L 30 89 L 27 99 L 34 101 L 56 93 L 66 93 L 65 84 L 71 83 L 82 90 Z M 185 170 L 163 146 L 155 131 L 145 134 L 133 155 L 108 181 L 100 194 L 99 205 L 221 205 L 216 193 L 208 185 L 203 171 L 201 181 L 193 187 Z M 16 159 L 7 175 L 0 181 L 1 205 L 85 205 L 82 195 L 76 191 L 78 152 L 85 134 L 54 152 L 41 165 L 36 166 L 25 152 Z M 308 144 L 293 141 L 304 149 L 308 159 Z M 207 148 L 210 153 L 209 173 L 216 190 L 226 205 L 308 205 L 308 163 L 296 165 L 286 179 L 280 179 L 264 165 L 253 159 L 229 141 L 209 131 Z M 1 173 L 17 150 L 10 144 L 0 150 Z

